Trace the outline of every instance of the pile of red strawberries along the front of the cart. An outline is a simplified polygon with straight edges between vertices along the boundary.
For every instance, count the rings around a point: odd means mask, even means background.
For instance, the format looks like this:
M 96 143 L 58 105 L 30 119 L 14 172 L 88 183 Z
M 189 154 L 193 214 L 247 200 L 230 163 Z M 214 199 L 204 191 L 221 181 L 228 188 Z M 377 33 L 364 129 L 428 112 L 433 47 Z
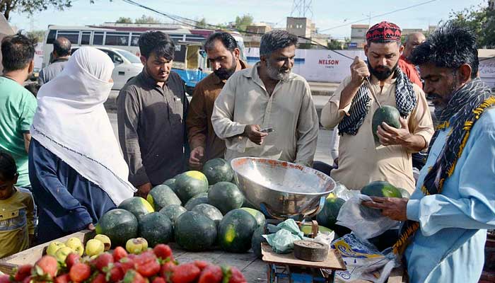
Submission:
M 71 253 L 62 265 L 45 255 L 34 266 L 22 265 L 10 277 L 1 275 L 0 283 L 7 282 L 245 283 L 246 279 L 235 267 L 199 260 L 179 265 L 170 247 L 159 244 L 139 255 L 117 247 L 112 254 L 102 253 L 93 260 Z

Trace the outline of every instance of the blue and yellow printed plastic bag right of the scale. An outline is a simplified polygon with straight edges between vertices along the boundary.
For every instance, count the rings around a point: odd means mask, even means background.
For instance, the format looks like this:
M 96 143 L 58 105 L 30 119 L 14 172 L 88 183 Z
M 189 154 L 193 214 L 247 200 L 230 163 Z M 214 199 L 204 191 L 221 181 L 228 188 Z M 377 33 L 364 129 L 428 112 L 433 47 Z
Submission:
M 360 240 L 353 233 L 335 240 L 332 248 L 341 255 L 347 267 L 347 270 L 335 272 L 335 277 L 344 282 L 364 279 L 382 283 L 388 279 L 392 269 L 400 265 L 400 260 L 391 248 L 380 253 L 373 244 Z

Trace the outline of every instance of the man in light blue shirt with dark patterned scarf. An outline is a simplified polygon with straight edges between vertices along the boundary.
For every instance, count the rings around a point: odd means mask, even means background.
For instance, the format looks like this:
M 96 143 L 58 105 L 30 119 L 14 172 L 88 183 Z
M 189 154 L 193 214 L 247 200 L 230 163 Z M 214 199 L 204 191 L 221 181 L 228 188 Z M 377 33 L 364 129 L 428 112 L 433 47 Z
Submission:
M 363 204 L 404 221 L 394 250 L 409 282 L 478 282 L 487 229 L 495 228 L 495 96 L 477 78 L 474 33 L 459 25 L 438 28 L 411 61 L 439 122 L 426 166 L 410 200 Z

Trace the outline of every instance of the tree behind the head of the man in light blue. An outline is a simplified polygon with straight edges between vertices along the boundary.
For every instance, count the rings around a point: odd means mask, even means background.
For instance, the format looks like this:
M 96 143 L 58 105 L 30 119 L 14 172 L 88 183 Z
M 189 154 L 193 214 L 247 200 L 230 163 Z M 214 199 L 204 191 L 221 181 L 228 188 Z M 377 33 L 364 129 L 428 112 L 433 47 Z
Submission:
M 495 10 L 487 6 L 471 6 L 462 11 L 450 13 L 450 19 L 466 26 L 477 35 L 478 47 L 495 47 Z

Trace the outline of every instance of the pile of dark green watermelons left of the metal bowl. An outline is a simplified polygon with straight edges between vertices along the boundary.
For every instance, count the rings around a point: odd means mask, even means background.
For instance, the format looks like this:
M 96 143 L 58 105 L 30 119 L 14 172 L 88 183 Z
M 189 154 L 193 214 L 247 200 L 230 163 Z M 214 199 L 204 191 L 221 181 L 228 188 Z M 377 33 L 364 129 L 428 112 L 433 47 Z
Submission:
M 140 237 L 151 248 L 175 241 L 185 250 L 245 253 L 265 218 L 262 212 L 243 207 L 245 198 L 232 182 L 230 164 L 213 159 L 204 164 L 203 172 L 187 171 L 153 187 L 146 200 L 124 200 L 100 218 L 96 233 L 108 236 L 114 246 Z

